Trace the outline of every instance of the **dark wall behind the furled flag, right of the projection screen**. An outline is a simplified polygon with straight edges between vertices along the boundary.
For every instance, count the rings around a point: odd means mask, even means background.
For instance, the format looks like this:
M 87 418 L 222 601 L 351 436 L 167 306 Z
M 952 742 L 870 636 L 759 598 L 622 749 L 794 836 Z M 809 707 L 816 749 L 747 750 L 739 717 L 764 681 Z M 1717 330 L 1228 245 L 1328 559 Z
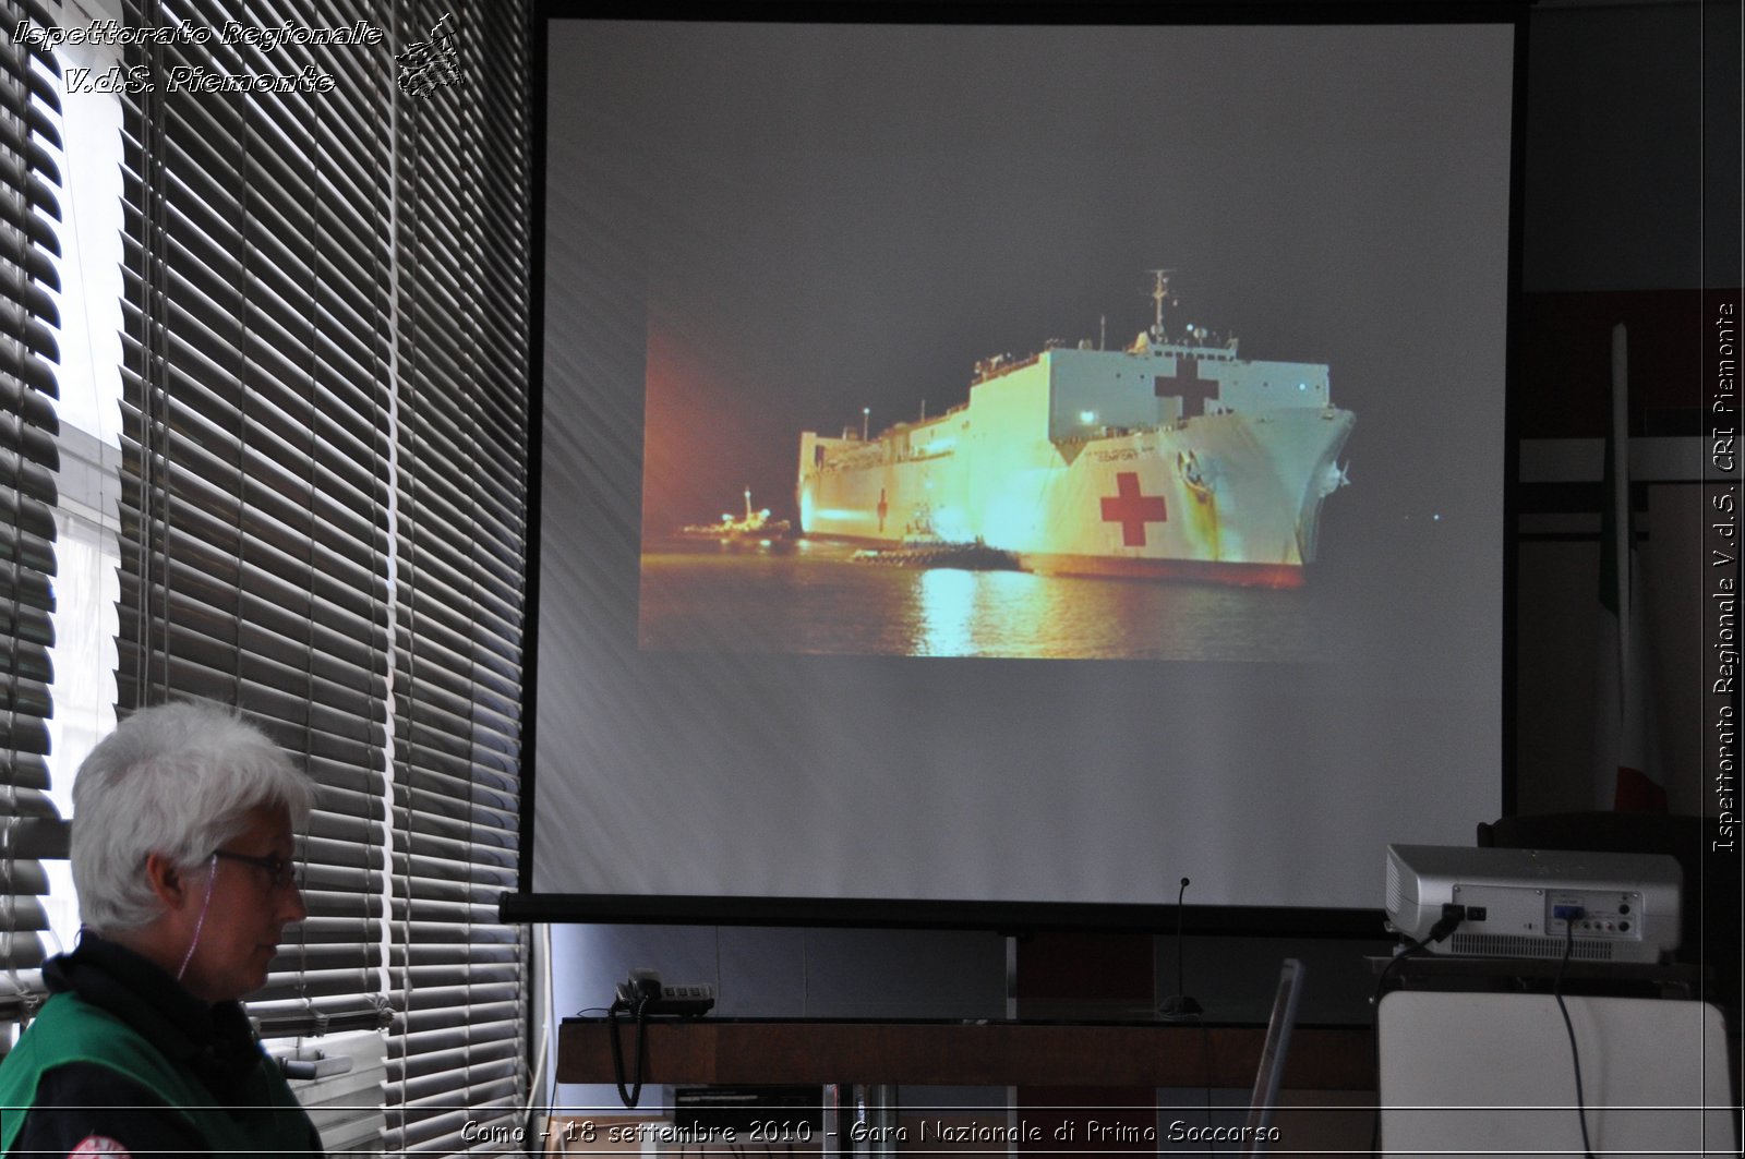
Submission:
M 1591 808 L 1597 794 L 1598 478 L 1616 323 L 1630 347 L 1654 740 L 1670 806 L 1717 810 L 1701 754 L 1696 483 L 1712 291 L 1736 302 L 1740 286 L 1738 44 L 1736 3 L 1551 3 L 1532 16 L 1516 381 L 1520 812 Z

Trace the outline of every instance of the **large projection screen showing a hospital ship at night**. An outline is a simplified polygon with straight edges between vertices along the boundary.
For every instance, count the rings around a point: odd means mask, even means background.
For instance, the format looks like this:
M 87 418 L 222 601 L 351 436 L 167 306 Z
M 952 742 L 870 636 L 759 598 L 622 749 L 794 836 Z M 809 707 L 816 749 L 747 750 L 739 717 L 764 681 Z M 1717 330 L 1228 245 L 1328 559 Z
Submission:
M 1513 23 L 546 37 L 511 908 L 1379 909 L 1502 810 Z

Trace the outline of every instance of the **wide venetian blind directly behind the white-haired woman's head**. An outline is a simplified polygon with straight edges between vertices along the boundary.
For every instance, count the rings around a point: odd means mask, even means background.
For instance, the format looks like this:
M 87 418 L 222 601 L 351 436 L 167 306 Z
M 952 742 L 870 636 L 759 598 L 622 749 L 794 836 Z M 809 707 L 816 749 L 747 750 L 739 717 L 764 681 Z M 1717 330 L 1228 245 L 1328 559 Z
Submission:
M 375 19 L 332 3 L 335 23 Z M 267 3 L 131 0 L 218 30 Z M 326 17 L 323 17 L 326 19 Z M 129 51 L 122 709 L 239 705 L 321 785 L 309 920 L 251 1002 L 263 1033 L 379 1025 L 386 868 L 391 143 L 386 51 L 204 42 Z M 174 68 L 333 77 L 213 94 Z

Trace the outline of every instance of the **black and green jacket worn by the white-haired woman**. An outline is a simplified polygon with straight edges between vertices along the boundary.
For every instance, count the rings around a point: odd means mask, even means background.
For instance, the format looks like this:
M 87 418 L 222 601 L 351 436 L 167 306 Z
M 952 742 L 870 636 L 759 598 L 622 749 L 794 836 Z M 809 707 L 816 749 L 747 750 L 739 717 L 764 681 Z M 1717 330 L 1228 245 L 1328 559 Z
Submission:
M 321 1140 L 236 1002 L 208 1005 L 150 960 L 86 932 L 44 964 L 51 998 L 0 1063 L 0 1149 L 68 1156 L 319 1156 Z M 10 1145 L 7 1147 L 7 1138 Z

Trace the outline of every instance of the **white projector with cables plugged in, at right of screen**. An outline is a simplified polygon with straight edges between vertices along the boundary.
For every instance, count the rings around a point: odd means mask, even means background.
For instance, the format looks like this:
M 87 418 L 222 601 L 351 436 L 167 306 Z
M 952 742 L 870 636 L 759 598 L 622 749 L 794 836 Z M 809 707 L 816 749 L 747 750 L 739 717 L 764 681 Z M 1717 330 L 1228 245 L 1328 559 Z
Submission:
M 1431 953 L 1659 962 L 1679 948 L 1682 880 L 1665 854 L 1389 845 L 1387 927 L 1422 943 L 1457 913 Z

